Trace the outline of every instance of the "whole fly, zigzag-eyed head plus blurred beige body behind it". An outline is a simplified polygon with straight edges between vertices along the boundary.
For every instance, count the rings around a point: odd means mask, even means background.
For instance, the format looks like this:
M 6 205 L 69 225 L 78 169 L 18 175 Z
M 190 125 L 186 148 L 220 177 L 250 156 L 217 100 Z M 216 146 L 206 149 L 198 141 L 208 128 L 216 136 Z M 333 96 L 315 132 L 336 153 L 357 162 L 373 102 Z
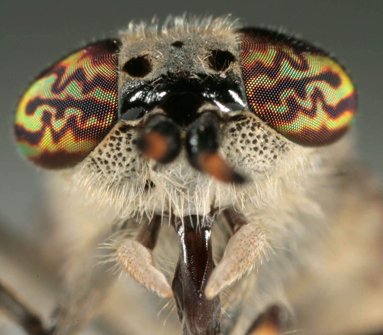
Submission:
M 131 23 L 70 53 L 14 123 L 52 170 L 44 247 L 71 250 L 57 309 L 42 325 L 5 287 L 1 304 L 30 334 L 77 333 L 95 310 L 108 334 L 383 329 L 382 201 L 356 110 L 326 51 L 229 16 Z M 177 310 L 164 327 L 159 299 Z

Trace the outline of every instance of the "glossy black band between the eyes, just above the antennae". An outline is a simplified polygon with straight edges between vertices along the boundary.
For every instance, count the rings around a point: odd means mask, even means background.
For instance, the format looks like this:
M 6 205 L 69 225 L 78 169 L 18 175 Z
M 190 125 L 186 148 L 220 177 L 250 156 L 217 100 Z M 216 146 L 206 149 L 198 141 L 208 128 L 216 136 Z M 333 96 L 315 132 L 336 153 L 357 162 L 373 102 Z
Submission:
M 121 90 L 120 115 L 126 120 L 136 120 L 159 106 L 178 125 L 188 126 L 194 121 L 202 103 L 236 103 L 233 92 L 240 99 L 245 99 L 241 83 L 237 80 L 206 74 L 198 74 L 196 78 L 190 78 L 188 74 L 167 74 L 152 83 L 127 81 Z

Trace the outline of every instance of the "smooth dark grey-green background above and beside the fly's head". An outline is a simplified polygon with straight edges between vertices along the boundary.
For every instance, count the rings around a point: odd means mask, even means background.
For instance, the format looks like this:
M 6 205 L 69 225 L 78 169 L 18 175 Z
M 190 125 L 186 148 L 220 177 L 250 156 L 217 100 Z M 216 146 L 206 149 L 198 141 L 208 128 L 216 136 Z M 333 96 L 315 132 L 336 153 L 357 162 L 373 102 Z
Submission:
M 11 134 L 15 104 L 28 82 L 44 67 L 85 42 L 116 36 L 129 21 L 169 13 L 232 15 L 249 25 L 285 28 L 334 53 L 350 70 L 359 91 L 357 128 L 363 159 L 383 176 L 381 146 L 382 3 L 350 1 L 152 2 L 2 1 L 0 218 L 12 229 L 33 233 L 30 216 L 40 201 L 42 174 L 16 153 Z M 357 148 L 355 148 L 357 149 Z M 25 223 L 25 226 L 22 225 Z

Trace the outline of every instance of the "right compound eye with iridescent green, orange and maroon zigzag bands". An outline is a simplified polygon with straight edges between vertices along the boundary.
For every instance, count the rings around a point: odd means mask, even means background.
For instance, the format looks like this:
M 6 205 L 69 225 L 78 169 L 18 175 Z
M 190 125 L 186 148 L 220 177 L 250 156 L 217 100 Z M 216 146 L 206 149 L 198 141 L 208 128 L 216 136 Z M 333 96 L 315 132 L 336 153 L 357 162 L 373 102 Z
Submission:
M 349 129 L 357 100 L 337 61 L 268 30 L 244 28 L 238 40 L 247 102 L 260 119 L 307 146 L 330 144 Z

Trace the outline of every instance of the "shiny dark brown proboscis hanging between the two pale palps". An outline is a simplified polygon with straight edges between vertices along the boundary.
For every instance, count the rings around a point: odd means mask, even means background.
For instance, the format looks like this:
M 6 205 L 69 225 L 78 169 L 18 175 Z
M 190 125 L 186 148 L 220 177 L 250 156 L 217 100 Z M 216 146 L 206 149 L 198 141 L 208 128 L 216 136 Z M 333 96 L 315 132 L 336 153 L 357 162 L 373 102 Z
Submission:
M 214 269 L 211 228 L 217 214 L 174 218 L 180 254 L 172 282 L 183 335 L 221 334 L 221 299 L 207 300 L 206 283 Z

